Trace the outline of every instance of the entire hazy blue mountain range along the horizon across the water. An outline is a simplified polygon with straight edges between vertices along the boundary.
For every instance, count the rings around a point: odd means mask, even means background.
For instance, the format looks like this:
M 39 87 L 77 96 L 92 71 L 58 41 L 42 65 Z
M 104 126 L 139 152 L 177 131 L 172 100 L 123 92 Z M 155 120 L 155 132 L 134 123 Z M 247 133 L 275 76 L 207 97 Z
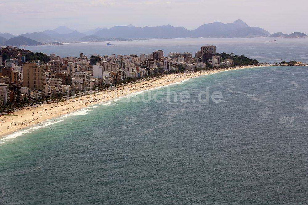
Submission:
M 153 39 L 153 38 L 220 38 L 220 37 L 285 37 L 305 38 L 306 34 L 295 32 L 287 35 L 282 33 L 270 34 L 259 27 L 250 27 L 242 20 L 233 23 L 214 22 L 199 26 L 194 30 L 187 30 L 184 27 L 171 25 L 155 27 L 114 26 L 110 29 L 96 28 L 87 32 L 71 30 L 66 26 L 59 26 L 53 30 L 21 34 L 19 37 L 30 38 L 37 42 L 88 42 L 88 41 L 119 41 L 132 39 Z M 0 37 L 11 39 L 12 34 L 0 33 Z M 4 39 L 0 39 L 3 44 Z

